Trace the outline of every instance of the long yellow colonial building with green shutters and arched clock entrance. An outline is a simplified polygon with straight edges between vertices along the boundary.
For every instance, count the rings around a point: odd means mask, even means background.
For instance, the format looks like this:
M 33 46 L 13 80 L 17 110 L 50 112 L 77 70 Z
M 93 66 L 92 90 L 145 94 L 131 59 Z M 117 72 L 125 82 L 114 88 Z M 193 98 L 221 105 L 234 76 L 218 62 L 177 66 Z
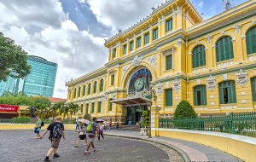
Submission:
M 66 84 L 80 117 L 135 124 L 152 89 L 152 119 L 172 116 L 182 100 L 201 116 L 256 110 L 255 0 L 208 20 L 189 0 L 166 1 L 105 46 L 104 67 Z

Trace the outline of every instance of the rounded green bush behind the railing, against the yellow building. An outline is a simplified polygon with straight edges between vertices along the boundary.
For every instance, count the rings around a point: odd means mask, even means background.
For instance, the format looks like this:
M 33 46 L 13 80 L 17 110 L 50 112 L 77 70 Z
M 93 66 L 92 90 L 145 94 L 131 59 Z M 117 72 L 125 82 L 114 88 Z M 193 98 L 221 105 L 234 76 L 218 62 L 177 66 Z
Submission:
M 174 112 L 174 119 L 195 119 L 196 113 L 188 101 L 181 101 Z

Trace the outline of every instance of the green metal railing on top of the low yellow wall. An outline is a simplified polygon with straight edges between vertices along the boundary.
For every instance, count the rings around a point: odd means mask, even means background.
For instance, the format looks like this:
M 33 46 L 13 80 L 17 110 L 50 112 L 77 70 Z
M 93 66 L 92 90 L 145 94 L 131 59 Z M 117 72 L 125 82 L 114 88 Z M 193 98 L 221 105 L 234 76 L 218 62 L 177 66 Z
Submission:
M 256 136 L 256 113 L 241 113 L 196 119 L 160 119 L 160 128 L 207 130 Z

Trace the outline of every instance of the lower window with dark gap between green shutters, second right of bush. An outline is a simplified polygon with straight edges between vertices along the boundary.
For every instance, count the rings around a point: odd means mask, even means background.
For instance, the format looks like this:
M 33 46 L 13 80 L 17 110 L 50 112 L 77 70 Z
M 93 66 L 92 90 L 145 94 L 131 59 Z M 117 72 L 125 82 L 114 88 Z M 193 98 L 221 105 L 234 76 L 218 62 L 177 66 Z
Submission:
M 219 101 L 221 104 L 236 103 L 236 85 L 234 81 L 218 84 Z

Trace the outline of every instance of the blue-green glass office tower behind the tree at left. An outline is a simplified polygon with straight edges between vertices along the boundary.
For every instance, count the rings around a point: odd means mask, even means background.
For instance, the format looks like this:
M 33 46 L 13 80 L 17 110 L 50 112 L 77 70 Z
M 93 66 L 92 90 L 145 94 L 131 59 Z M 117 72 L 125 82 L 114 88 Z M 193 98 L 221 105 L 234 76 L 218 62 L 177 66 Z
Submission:
M 57 64 L 34 55 L 28 55 L 27 63 L 32 66 L 30 74 L 24 79 L 9 78 L 7 82 L 1 82 L 0 95 L 8 91 L 23 92 L 26 95 L 53 96 Z

